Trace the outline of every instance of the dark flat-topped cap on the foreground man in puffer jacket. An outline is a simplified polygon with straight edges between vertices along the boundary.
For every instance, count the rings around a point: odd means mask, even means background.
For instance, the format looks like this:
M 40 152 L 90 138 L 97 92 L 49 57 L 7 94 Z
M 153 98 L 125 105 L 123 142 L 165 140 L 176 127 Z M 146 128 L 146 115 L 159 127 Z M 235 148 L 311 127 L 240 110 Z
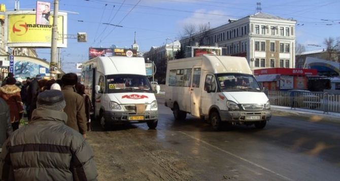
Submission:
M 37 107 L 61 111 L 66 106 L 64 96 L 59 90 L 46 90 L 38 95 Z

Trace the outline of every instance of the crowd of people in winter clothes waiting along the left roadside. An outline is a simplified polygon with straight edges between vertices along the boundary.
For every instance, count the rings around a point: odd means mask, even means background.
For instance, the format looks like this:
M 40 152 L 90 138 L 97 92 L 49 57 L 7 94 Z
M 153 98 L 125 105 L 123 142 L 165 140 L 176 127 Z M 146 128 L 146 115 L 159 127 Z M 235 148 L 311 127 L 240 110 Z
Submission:
M 0 108 L 2 180 L 96 180 L 85 140 L 93 106 L 76 74 L 19 82 L 10 73 L 0 87 Z M 19 128 L 22 119 L 28 124 Z

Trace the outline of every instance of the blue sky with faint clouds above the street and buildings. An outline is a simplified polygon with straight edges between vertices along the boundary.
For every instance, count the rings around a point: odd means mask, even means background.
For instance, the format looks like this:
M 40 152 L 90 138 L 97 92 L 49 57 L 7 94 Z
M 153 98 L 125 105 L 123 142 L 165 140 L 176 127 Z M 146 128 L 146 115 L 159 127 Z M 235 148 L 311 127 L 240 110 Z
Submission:
M 7 11 L 14 9 L 14 2 L 2 1 Z M 45 2 L 53 8 L 54 1 Z M 67 48 L 61 49 L 62 69 L 75 72 L 76 63 L 88 59 L 89 47 L 130 48 L 134 31 L 140 51 L 146 52 L 151 46 L 170 43 L 167 38 L 179 40 L 185 25 L 209 22 L 214 28 L 230 18 L 254 14 L 256 3 L 261 3 L 261 12 L 296 20 L 296 41 L 307 51 L 322 49 L 325 38 L 340 37 L 339 0 L 59 0 L 59 11 L 69 12 L 67 34 L 86 32 L 88 37 L 86 43 L 67 40 Z M 20 1 L 20 10 L 35 8 L 36 1 Z M 50 60 L 49 48 L 37 52 L 40 58 Z

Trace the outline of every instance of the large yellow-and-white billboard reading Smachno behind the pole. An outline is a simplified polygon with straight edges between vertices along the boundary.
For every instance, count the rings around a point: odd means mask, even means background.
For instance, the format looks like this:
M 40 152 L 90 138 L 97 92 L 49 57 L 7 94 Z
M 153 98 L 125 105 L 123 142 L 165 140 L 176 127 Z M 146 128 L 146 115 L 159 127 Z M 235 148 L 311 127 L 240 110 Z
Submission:
M 36 14 L 32 11 L 11 11 L 6 12 L 5 41 L 9 47 L 51 47 L 52 22 L 51 24 L 37 24 Z M 58 13 L 58 32 L 59 38 L 57 46 L 67 47 L 67 39 L 63 34 L 67 34 L 67 13 Z M 6 40 L 7 39 L 7 40 Z

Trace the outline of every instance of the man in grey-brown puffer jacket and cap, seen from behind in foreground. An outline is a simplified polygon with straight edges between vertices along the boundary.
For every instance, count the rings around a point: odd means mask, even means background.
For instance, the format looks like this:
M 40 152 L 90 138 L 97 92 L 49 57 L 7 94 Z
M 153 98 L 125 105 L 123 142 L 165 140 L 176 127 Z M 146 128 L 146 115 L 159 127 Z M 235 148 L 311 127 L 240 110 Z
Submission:
M 6 140 L 0 156 L 1 180 L 97 180 L 88 142 L 66 126 L 61 91 L 38 95 L 32 120 Z

